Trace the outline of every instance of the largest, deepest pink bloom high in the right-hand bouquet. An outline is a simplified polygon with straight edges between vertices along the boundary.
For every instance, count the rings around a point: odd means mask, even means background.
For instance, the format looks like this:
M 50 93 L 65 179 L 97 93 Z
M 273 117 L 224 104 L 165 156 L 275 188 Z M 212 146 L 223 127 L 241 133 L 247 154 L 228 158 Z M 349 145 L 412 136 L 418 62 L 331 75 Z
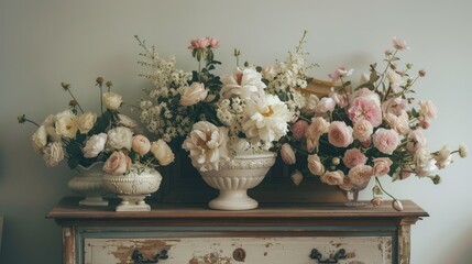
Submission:
M 381 108 L 375 100 L 371 100 L 366 97 L 358 97 L 352 100 L 348 113 L 349 119 L 354 123 L 359 120 L 367 120 L 374 128 L 382 123 Z

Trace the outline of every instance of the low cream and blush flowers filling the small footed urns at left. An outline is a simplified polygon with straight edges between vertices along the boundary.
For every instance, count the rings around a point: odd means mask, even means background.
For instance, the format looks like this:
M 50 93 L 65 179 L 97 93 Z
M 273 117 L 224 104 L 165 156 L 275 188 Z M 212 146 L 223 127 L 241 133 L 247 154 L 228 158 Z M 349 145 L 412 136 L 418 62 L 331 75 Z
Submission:
M 107 91 L 103 92 L 103 84 Z M 19 116 L 20 123 L 33 123 L 37 127 L 32 135 L 33 148 L 42 154 L 48 167 L 57 166 L 67 160 L 70 168 L 88 167 L 103 162 L 105 173 L 124 175 L 130 169 L 142 172 L 149 166 L 168 165 L 174 154 L 168 145 L 158 140 L 150 140 L 135 134 L 136 122 L 119 113 L 122 97 L 111 91 L 111 81 L 97 78 L 100 88 L 100 116 L 84 111 L 72 92 L 72 86 L 63 82 L 62 88 L 73 100 L 69 107 L 56 114 L 48 116 L 39 124 L 25 114 Z M 105 110 L 103 110 L 105 107 Z

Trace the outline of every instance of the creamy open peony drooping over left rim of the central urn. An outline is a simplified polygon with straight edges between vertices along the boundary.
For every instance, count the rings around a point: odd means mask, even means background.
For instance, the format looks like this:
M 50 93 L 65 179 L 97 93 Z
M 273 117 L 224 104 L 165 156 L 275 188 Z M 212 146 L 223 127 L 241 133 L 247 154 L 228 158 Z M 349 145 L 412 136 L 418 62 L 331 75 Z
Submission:
M 182 147 L 189 152 L 194 167 L 201 172 L 218 170 L 220 161 L 229 160 L 228 128 L 218 128 L 207 121 L 199 121 Z

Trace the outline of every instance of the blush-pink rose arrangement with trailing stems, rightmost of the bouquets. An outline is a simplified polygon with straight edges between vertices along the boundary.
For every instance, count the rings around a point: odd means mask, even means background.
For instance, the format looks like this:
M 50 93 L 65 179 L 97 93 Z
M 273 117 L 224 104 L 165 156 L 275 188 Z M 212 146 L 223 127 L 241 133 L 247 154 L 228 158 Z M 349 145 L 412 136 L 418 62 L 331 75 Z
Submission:
M 397 210 L 402 204 L 382 187 L 381 177 L 399 180 L 416 175 L 439 184 L 438 170 L 452 163 L 454 153 L 465 157 L 466 147 L 427 148 L 424 131 L 436 108 L 429 100 L 414 106 L 413 86 L 426 72 L 411 76 L 411 64 L 399 65 L 398 54 L 405 50 L 406 42 L 394 38 L 383 69 L 370 65 L 370 74 L 362 75 L 355 88 L 347 80 L 353 69 L 339 67 L 330 74 L 338 85 L 327 97 L 309 96 L 281 148 L 284 162 L 343 190 L 363 189 L 374 178 L 372 204 L 381 205 L 385 194 Z M 293 178 L 299 183 L 303 173 L 296 170 Z

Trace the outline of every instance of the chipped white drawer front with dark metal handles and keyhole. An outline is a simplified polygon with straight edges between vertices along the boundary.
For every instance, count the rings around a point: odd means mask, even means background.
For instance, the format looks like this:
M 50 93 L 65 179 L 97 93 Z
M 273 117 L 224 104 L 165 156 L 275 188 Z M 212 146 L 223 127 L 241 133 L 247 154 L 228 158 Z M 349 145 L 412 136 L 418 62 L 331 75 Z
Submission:
M 327 261 L 340 250 L 345 258 L 340 264 L 392 263 L 391 237 L 272 237 L 272 238 L 147 238 L 84 240 L 84 263 L 135 263 L 133 251 L 142 254 L 143 263 L 152 263 L 156 254 L 167 251 L 164 264 L 314 264 L 310 258 L 316 249 L 321 261 Z M 330 256 L 331 255 L 331 256 Z M 136 262 L 139 263 L 139 262 Z M 155 263 L 155 262 L 153 262 Z M 321 262 L 320 262 L 321 263 Z

